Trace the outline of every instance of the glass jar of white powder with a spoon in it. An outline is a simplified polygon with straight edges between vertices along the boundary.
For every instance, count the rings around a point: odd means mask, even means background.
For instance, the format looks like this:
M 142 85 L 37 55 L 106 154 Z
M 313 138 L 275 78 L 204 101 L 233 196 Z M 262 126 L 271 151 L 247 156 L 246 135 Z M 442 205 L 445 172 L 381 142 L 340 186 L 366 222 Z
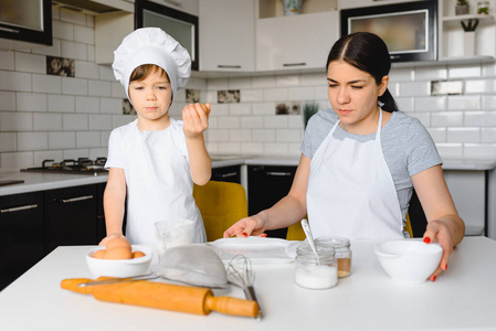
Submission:
M 296 248 L 295 282 L 308 289 L 327 289 L 338 282 L 335 249 L 327 244 L 317 246 L 317 256 L 305 243 Z

